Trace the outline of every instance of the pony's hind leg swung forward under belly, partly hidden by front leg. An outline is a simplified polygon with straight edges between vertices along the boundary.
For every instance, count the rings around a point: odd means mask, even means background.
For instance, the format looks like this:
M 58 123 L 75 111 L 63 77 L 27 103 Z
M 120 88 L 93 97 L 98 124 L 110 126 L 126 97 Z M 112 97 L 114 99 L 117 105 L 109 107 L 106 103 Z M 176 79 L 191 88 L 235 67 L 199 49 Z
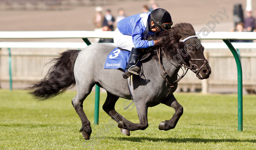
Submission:
M 111 93 L 107 92 L 107 98 L 105 103 L 103 104 L 102 108 L 103 110 L 113 119 L 115 120 L 117 123 L 119 123 L 120 121 L 123 121 L 123 119 L 125 119 L 123 116 L 121 116 L 118 112 L 116 112 L 115 110 L 115 105 L 116 105 L 116 101 L 118 100 L 119 97 L 112 95 Z M 123 133 L 124 135 L 128 135 L 130 136 L 130 130 L 128 129 L 121 129 L 121 133 Z

